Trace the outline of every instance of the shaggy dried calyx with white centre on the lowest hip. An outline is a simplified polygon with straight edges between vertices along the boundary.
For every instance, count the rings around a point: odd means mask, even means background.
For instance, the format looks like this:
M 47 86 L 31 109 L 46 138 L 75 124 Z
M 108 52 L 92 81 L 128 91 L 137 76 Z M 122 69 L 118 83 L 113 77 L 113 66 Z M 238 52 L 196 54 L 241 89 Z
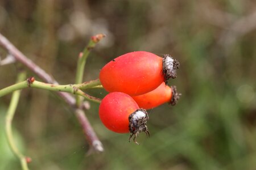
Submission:
M 134 136 L 133 141 L 139 145 L 136 141 L 137 135 L 144 131 L 146 135 L 149 137 L 150 133 L 147 130 L 147 120 L 148 120 L 148 113 L 145 109 L 137 109 L 135 112 L 131 113 L 129 116 L 129 130 L 130 130 L 130 138 Z

